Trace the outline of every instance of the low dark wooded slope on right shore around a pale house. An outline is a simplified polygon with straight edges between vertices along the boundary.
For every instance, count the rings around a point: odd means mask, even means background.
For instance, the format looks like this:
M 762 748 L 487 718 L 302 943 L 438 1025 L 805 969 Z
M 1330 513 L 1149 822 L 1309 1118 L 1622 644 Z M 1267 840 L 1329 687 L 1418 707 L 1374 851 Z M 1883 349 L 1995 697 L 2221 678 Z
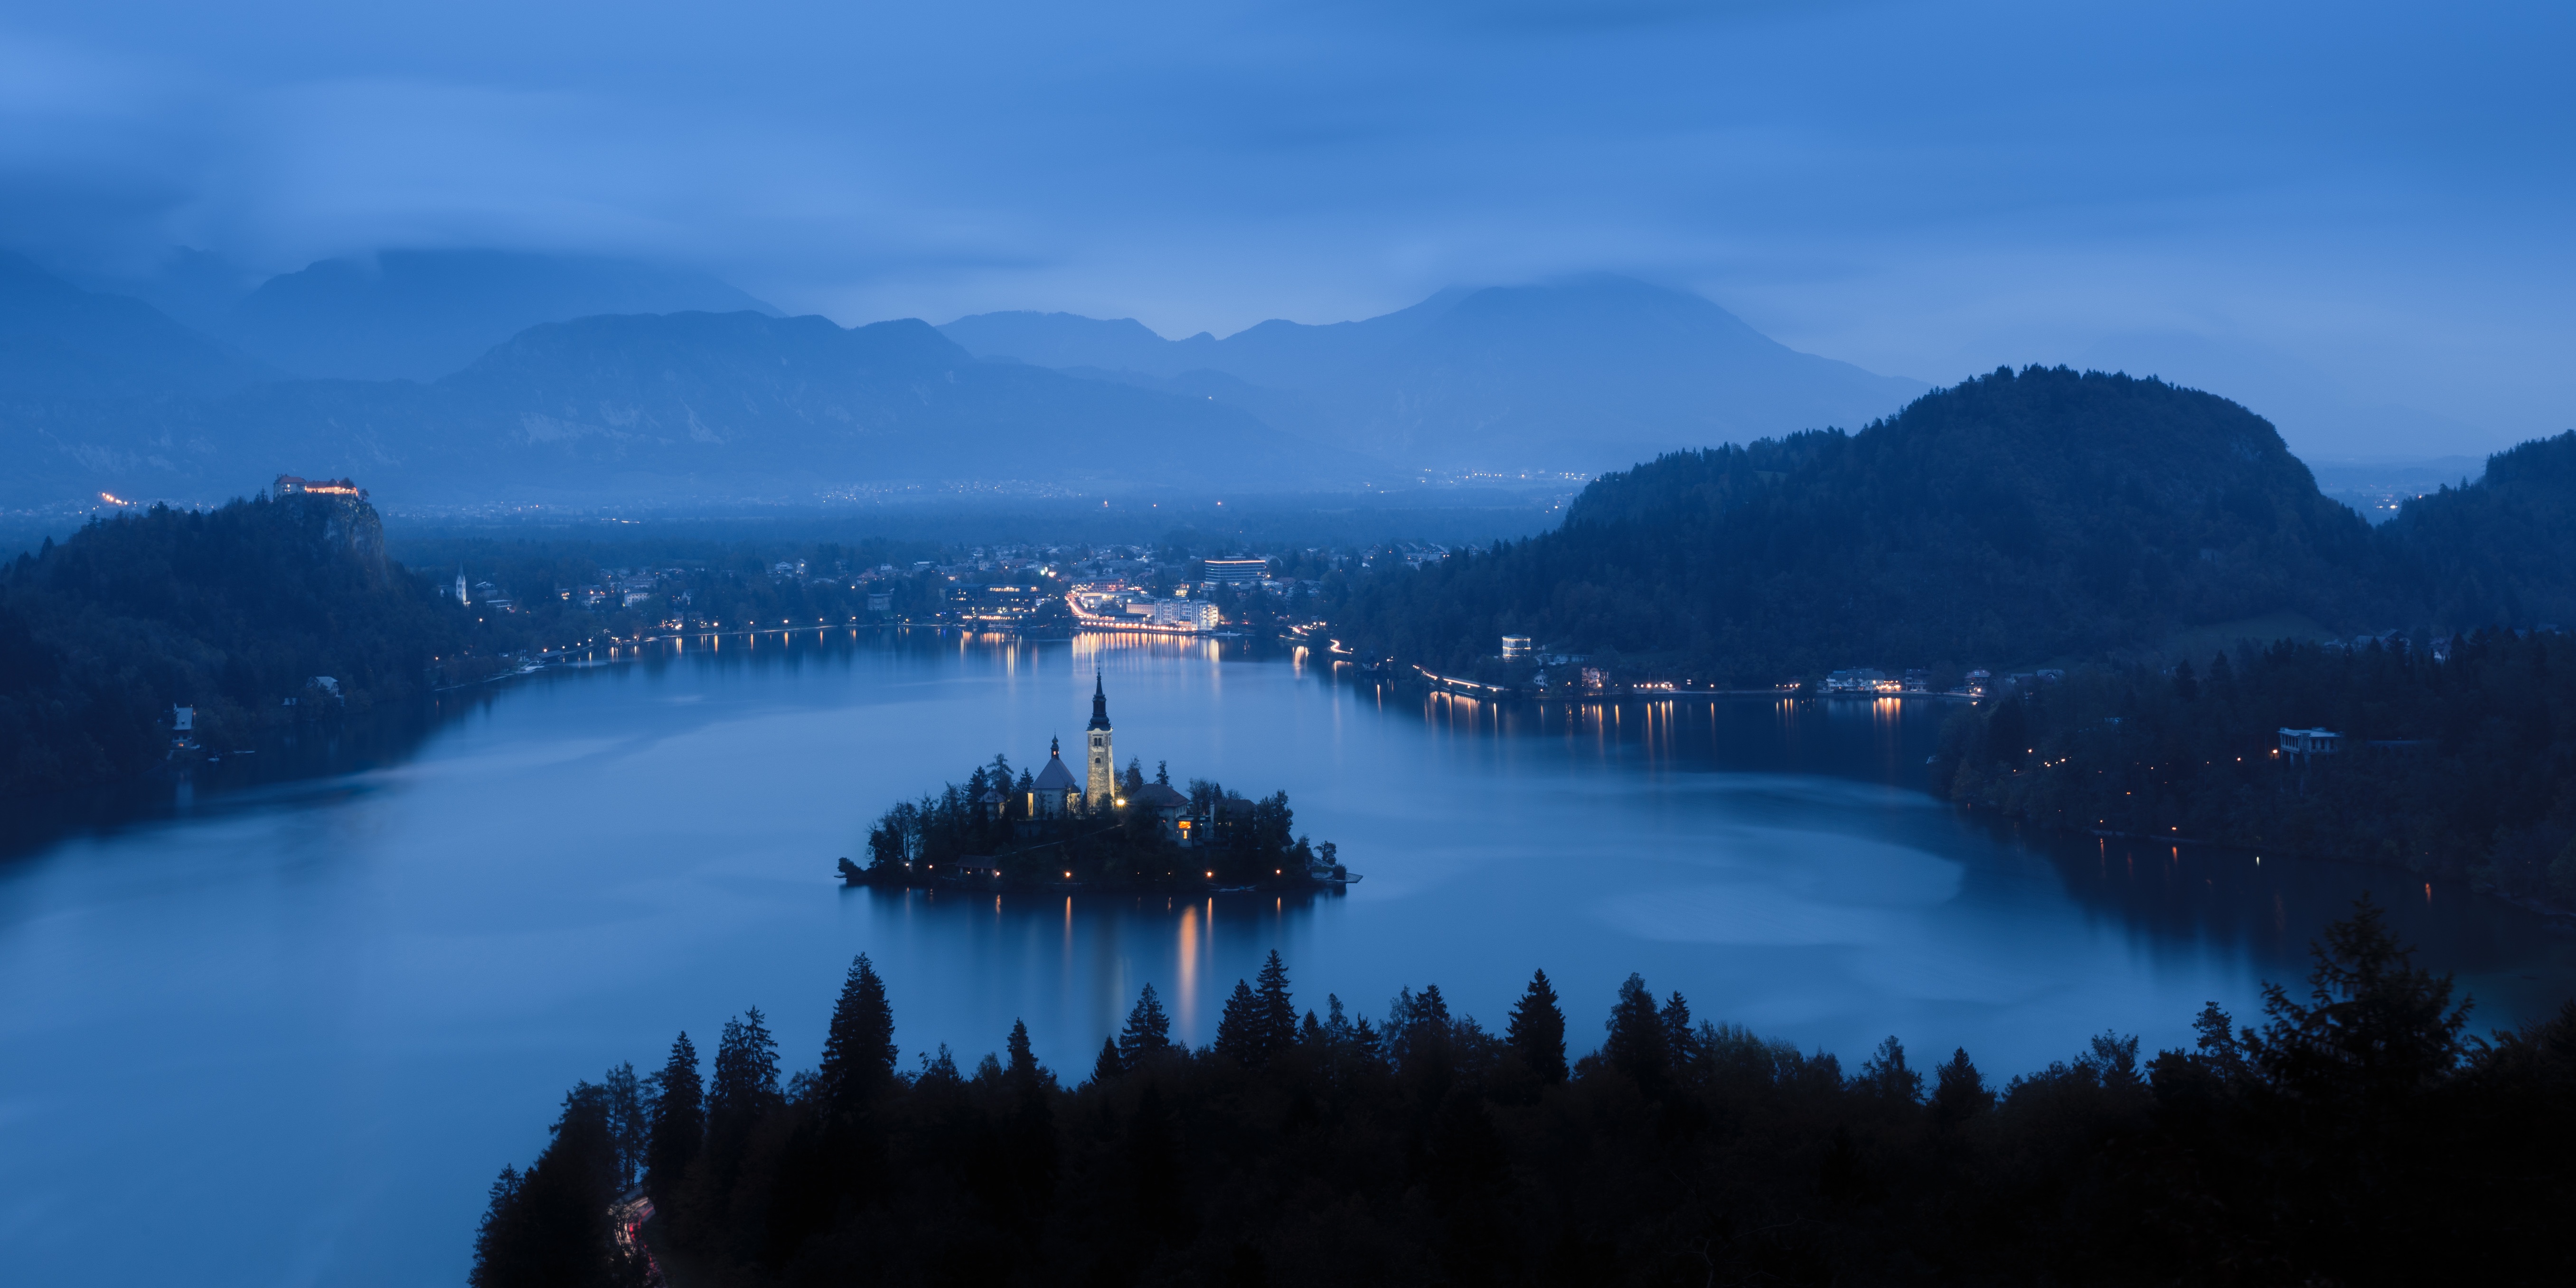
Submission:
M 2285 757 L 2280 729 L 2342 744 Z M 2056 827 L 2465 876 L 2576 912 L 2576 636 L 2076 667 L 1955 714 L 1932 783 Z

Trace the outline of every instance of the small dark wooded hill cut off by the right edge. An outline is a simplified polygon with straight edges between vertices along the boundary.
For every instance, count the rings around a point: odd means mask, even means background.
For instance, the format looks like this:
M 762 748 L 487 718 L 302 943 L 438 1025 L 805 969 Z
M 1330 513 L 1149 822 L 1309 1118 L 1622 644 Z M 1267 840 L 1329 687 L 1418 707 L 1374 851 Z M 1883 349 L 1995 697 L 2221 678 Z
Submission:
M 2576 430 L 2486 459 L 2380 528 L 2434 621 L 2576 626 Z

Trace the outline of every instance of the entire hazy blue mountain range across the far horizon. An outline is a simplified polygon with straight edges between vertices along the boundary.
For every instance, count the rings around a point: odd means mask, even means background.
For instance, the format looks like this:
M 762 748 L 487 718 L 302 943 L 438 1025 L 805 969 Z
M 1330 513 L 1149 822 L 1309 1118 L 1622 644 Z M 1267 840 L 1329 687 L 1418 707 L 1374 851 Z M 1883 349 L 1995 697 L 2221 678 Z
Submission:
M 379 252 L 229 301 L 222 265 L 180 268 L 170 299 L 211 335 L 0 260 L 0 502 L 219 500 L 278 471 L 451 505 L 1350 489 L 1584 474 L 1922 389 L 1625 278 L 1162 340 L 1069 314 L 840 327 L 623 260 Z

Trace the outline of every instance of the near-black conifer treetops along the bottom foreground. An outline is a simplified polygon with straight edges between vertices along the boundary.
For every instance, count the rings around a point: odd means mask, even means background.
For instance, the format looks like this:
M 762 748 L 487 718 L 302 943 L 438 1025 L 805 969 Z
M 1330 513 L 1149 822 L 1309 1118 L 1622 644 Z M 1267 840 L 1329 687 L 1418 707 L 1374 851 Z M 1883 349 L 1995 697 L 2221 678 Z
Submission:
M 1298 1015 L 1278 956 L 1213 1046 L 1149 989 L 1066 1084 L 1018 1025 L 899 1072 L 860 958 L 814 1072 L 781 1084 L 755 1010 L 706 1082 L 683 1036 L 577 1087 L 474 1283 L 2571 1283 L 2576 1005 L 2465 1020 L 2365 902 L 2259 1028 L 2208 1007 L 2190 1051 L 2105 1033 L 2002 1087 L 1636 976 L 1571 1064 L 1543 974 L 1502 1033 L 1437 989 Z M 652 1260 L 608 1216 L 631 1182 Z

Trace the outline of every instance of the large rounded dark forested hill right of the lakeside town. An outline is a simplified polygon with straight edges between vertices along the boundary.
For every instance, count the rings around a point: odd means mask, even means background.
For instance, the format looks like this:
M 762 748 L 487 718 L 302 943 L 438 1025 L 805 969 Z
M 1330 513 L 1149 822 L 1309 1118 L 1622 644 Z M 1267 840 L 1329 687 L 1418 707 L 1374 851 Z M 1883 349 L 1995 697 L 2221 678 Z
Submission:
M 1860 433 L 1662 456 L 1546 536 L 1368 580 L 1363 652 L 1497 636 L 1703 683 L 2092 654 L 2262 613 L 2378 623 L 2370 528 L 2269 422 L 2156 379 L 1994 371 Z

